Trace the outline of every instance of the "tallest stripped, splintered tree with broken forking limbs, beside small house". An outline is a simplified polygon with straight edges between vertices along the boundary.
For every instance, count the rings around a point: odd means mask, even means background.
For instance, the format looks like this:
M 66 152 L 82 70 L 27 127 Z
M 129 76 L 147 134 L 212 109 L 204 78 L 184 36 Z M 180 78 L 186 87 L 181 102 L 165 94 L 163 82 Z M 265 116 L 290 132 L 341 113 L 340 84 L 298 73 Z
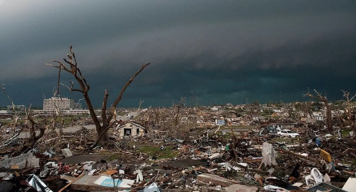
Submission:
M 142 65 L 141 68 L 135 74 L 132 75 L 130 80 L 126 82 L 124 87 L 122 87 L 119 95 L 117 95 L 115 101 L 111 104 L 110 112 L 109 112 L 108 115 L 106 115 L 106 110 L 107 110 L 107 102 L 108 102 L 108 98 L 109 98 L 109 93 L 108 93 L 107 90 L 105 90 L 104 99 L 103 99 L 103 106 L 101 108 L 101 118 L 103 120 L 103 125 L 101 125 L 98 117 L 96 117 L 96 114 L 95 114 L 95 111 L 94 111 L 94 107 L 93 107 L 93 105 L 91 103 L 91 100 L 90 100 L 90 97 L 89 97 L 89 94 L 88 94 L 88 91 L 90 90 L 89 83 L 88 83 L 87 79 L 84 78 L 84 75 L 82 74 L 82 71 L 78 67 L 77 59 L 75 58 L 75 53 L 72 50 L 72 46 L 70 46 L 69 52 L 70 53 L 67 54 L 68 60 L 67 59 L 63 59 L 64 62 L 65 62 L 64 64 L 61 61 L 53 60 L 52 62 L 58 63 L 58 65 L 53 65 L 53 64 L 46 64 L 46 65 L 58 68 L 58 85 L 66 86 L 69 89 L 70 92 L 77 91 L 77 92 L 81 92 L 83 94 L 84 100 L 87 103 L 87 107 L 88 107 L 88 110 L 90 112 L 90 117 L 94 121 L 96 132 L 98 134 L 96 142 L 94 142 L 94 144 L 91 146 L 91 148 L 94 148 L 95 146 L 97 146 L 99 144 L 101 139 L 103 139 L 103 138 L 106 139 L 106 135 L 107 135 L 106 133 L 114 125 L 115 122 L 111 122 L 111 120 L 112 120 L 112 118 L 114 117 L 114 115 L 116 113 L 116 106 L 121 101 L 122 94 L 124 94 L 126 88 L 131 84 L 131 82 L 136 78 L 136 76 L 139 73 L 141 73 L 141 71 L 147 65 L 149 65 L 150 63 L 146 63 L 146 64 Z M 77 83 L 78 83 L 78 85 L 80 87 L 79 89 L 75 89 L 73 87 L 74 86 L 73 85 L 73 81 L 69 81 L 70 82 L 70 87 L 60 83 L 61 71 L 62 70 L 67 71 L 68 73 L 73 75 L 73 77 L 75 78 L 75 80 L 77 81 Z M 59 91 L 58 91 L 58 95 L 60 95 Z M 116 115 L 115 115 L 115 118 L 116 118 Z

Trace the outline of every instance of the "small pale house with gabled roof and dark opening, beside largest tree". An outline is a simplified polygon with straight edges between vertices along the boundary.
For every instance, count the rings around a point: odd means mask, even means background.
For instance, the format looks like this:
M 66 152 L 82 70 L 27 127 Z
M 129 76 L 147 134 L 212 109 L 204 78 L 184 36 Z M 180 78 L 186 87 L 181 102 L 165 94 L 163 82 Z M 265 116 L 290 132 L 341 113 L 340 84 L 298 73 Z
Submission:
M 122 126 L 118 126 L 117 132 L 120 137 L 141 137 L 147 134 L 147 128 L 137 122 L 129 122 Z

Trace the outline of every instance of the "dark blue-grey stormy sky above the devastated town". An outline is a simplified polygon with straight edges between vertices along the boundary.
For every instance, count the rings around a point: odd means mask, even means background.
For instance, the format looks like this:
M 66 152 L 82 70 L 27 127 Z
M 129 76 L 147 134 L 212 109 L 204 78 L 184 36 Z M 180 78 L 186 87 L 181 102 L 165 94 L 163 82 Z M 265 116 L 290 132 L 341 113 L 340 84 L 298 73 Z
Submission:
M 120 106 L 192 92 L 205 105 L 295 101 L 308 87 L 341 99 L 356 92 L 355 10 L 353 0 L 0 0 L 0 83 L 16 104 L 41 106 L 58 73 L 44 64 L 72 45 L 98 107 L 147 62 Z

